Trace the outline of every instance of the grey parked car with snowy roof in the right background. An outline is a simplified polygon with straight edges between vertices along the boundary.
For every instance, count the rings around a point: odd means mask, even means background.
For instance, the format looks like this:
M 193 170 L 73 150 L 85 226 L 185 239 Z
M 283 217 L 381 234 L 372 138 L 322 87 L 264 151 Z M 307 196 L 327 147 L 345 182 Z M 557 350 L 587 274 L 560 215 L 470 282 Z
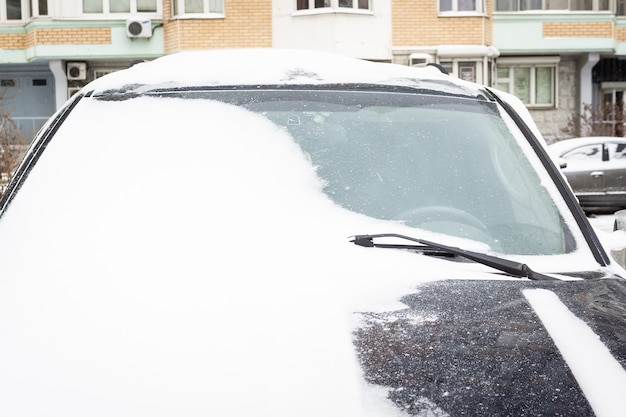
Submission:
M 551 144 L 550 152 L 586 212 L 626 208 L 626 138 L 566 139 Z

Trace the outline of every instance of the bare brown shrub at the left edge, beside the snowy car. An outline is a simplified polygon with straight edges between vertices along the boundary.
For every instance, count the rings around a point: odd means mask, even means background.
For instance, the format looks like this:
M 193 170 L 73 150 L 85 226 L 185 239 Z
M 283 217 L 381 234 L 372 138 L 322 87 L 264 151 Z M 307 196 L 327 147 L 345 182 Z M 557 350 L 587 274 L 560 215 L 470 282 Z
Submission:
M 26 146 L 15 120 L 0 107 L 0 196 L 13 177 Z

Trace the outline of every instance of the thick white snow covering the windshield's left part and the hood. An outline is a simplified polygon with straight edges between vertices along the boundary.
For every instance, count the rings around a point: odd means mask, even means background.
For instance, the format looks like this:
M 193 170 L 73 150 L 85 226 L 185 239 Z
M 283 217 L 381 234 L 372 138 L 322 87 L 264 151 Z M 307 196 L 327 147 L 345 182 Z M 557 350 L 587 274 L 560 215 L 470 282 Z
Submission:
M 0 219 L 0 414 L 399 414 L 355 313 L 494 275 L 349 243 L 402 226 L 334 205 L 261 116 L 163 100 L 84 99 Z

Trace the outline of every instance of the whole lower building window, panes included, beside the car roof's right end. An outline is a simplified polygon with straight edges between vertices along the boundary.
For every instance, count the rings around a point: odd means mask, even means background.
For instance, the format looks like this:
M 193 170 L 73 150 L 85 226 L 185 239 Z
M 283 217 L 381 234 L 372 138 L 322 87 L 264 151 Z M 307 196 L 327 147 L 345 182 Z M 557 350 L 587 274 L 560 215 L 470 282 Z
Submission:
M 496 86 L 515 95 L 529 107 L 556 105 L 555 63 L 509 64 L 498 61 Z

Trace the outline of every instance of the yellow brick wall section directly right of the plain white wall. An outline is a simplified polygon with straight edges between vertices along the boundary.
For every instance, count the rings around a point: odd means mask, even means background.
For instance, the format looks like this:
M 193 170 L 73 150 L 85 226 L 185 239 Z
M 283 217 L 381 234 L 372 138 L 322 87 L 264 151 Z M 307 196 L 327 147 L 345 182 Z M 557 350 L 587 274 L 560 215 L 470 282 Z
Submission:
M 492 0 L 485 7 L 490 11 Z M 493 43 L 490 15 L 440 17 L 433 0 L 392 0 L 391 19 L 394 47 Z

